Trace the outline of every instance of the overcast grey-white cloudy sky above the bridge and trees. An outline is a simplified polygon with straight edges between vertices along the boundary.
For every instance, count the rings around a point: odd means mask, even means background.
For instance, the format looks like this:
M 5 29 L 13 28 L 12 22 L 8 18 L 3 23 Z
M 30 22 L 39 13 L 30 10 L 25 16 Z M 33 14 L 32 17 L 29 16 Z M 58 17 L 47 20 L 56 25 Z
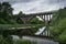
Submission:
M 0 2 L 2 1 L 12 4 L 13 13 L 19 13 L 19 11 L 24 13 L 45 12 L 66 7 L 66 0 L 0 0 Z

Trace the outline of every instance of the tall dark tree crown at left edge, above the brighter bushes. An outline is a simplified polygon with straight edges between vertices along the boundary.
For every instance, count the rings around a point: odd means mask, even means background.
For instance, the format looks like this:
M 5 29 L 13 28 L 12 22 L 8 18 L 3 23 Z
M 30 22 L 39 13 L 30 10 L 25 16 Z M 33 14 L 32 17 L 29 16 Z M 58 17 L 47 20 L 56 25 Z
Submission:
M 2 19 L 10 19 L 12 16 L 13 8 L 11 8 L 11 4 L 9 2 L 2 2 L 0 3 L 0 18 Z

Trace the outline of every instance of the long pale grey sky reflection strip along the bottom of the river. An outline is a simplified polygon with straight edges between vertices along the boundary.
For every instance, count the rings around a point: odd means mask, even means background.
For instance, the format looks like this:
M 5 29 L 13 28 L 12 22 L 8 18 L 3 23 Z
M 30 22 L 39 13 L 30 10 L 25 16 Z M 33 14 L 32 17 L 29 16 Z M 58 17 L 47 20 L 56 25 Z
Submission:
M 58 42 L 54 42 L 52 40 L 38 38 L 32 36 L 23 36 L 23 40 L 30 40 L 32 42 L 36 42 L 37 44 L 58 44 Z

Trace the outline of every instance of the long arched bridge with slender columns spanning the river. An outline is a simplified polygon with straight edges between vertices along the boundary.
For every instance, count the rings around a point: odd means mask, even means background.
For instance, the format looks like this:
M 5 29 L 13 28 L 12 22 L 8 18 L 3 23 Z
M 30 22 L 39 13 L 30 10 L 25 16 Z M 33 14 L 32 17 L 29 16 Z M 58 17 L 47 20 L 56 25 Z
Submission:
M 43 21 L 51 21 L 52 15 L 55 11 L 50 11 L 50 12 L 41 12 L 41 13 L 30 13 L 30 14 L 21 14 L 21 15 L 15 15 L 15 19 L 20 18 L 24 24 L 28 24 L 29 21 L 32 18 L 40 16 Z

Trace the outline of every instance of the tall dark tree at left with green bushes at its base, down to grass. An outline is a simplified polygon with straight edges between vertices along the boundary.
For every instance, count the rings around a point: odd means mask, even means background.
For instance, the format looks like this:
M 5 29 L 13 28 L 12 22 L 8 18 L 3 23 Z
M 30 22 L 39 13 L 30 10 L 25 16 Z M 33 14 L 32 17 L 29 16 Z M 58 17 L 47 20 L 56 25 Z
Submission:
M 2 2 L 0 3 L 0 23 L 1 24 L 14 24 L 13 19 L 13 8 L 11 8 L 11 4 L 9 2 Z

